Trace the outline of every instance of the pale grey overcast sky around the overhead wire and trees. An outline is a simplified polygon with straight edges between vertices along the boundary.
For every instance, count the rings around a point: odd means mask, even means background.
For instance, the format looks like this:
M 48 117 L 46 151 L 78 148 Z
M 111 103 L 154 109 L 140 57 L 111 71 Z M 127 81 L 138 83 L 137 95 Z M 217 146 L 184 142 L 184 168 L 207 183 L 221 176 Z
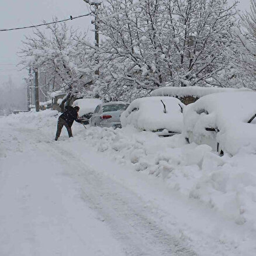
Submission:
M 89 12 L 88 5 L 83 0 L 0 0 L 0 29 L 37 25 L 42 20 L 51 21 L 54 16 L 59 20 L 72 16 L 79 16 Z M 233 0 L 229 0 L 233 2 Z M 241 0 L 238 8 L 249 9 L 250 0 Z M 91 18 L 85 17 L 68 21 L 68 25 L 83 30 L 92 29 Z M 24 36 L 32 34 L 32 29 L 0 32 L 0 87 L 2 82 L 11 76 L 15 84 L 23 84 L 25 71 L 18 71 L 19 62 L 17 52 L 22 47 Z M 89 32 L 91 40 L 93 33 Z M 1 88 L 0 88 L 1 89 Z M 1 91 L 0 91 L 1 93 Z

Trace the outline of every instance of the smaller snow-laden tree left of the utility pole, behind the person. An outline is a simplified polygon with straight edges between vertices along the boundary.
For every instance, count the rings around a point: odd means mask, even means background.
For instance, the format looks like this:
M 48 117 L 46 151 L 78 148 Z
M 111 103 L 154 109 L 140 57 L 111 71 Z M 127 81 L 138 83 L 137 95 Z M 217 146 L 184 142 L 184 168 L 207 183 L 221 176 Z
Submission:
M 69 29 L 65 23 L 54 23 L 47 25 L 47 30 L 34 30 L 23 44 L 21 64 L 46 72 L 49 92 L 63 89 L 68 95 L 92 93 L 95 47 L 85 34 Z

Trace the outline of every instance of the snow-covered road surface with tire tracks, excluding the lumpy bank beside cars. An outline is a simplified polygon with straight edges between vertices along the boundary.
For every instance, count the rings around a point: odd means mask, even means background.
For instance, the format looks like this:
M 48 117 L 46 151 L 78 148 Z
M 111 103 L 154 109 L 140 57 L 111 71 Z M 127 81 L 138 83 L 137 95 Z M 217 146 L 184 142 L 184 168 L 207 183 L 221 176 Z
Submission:
M 248 226 L 81 137 L 53 141 L 55 121 L 0 119 L 1 256 L 255 255 Z

